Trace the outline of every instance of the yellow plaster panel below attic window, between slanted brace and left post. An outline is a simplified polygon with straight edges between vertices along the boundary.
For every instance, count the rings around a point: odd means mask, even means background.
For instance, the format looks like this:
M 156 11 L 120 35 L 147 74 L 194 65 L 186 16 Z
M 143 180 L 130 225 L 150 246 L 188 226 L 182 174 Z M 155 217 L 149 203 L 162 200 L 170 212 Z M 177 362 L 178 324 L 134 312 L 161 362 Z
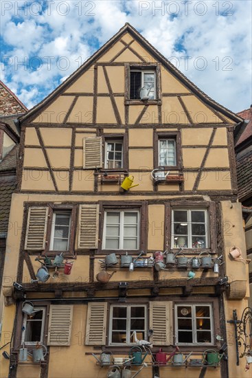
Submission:
M 93 122 L 93 96 L 80 96 L 71 111 L 67 122 L 85 124 Z

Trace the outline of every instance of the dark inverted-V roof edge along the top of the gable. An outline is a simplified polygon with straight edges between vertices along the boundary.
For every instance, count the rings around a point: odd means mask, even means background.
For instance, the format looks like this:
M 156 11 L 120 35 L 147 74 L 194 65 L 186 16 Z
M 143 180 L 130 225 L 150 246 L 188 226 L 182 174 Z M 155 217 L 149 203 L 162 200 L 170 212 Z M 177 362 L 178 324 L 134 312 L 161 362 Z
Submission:
M 216 111 L 220 111 L 222 114 L 227 115 L 227 117 L 231 118 L 234 122 L 242 122 L 242 118 L 240 116 L 236 115 L 236 113 L 233 113 L 229 109 L 222 107 L 222 105 L 218 104 L 218 102 L 212 100 L 207 96 L 201 89 L 196 87 L 193 82 L 191 82 L 185 75 L 179 71 L 172 63 L 169 62 L 168 59 L 166 59 L 157 49 L 155 49 L 133 26 L 131 26 L 129 23 L 126 23 L 124 27 L 122 27 L 117 34 L 115 34 L 111 39 L 109 39 L 100 49 L 98 49 L 97 52 L 95 52 L 83 65 L 81 65 L 76 71 L 73 72 L 67 78 L 64 82 L 62 82 L 61 85 L 59 85 L 54 91 L 52 91 L 49 96 L 47 96 L 44 100 L 39 102 L 35 107 L 30 109 L 23 117 L 21 117 L 21 122 L 27 120 L 27 118 L 31 118 L 34 113 L 37 113 L 38 110 L 45 107 L 48 103 L 50 103 L 54 98 L 60 95 L 60 93 L 66 89 L 73 80 L 76 80 L 84 71 L 86 71 L 91 64 L 95 62 L 106 50 L 115 43 L 115 41 L 119 40 L 119 38 L 125 34 L 126 32 L 130 33 L 141 45 L 143 45 L 152 56 L 157 57 L 157 60 L 159 60 L 165 67 L 168 67 L 170 72 L 176 76 L 181 82 L 183 82 L 191 91 L 194 93 L 198 98 L 201 98 L 203 102 L 209 104 L 211 107 L 216 109 Z

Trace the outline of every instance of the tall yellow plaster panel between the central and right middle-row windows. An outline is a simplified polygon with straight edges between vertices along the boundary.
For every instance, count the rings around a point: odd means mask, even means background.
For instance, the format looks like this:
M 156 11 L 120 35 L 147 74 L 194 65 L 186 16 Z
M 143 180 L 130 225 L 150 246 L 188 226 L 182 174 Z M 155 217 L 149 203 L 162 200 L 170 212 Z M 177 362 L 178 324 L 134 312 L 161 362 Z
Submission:
M 148 249 L 161 250 L 164 247 L 164 205 L 148 205 Z

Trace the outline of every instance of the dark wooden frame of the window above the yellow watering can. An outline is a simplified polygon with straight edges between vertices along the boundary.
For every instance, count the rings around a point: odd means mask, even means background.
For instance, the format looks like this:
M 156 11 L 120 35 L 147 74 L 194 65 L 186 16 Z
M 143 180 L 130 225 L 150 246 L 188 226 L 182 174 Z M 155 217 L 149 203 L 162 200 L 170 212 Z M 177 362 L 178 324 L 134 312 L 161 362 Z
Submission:
M 122 168 L 113 168 L 108 169 L 105 168 L 106 162 L 106 143 L 108 140 L 115 141 L 115 140 L 122 140 Z M 125 133 L 118 133 L 118 134 L 104 134 L 102 135 L 102 169 L 100 172 L 107 172 L 107 173 L 115 173 L 115 172 L 122 172 L 128 173 L 128 138 Z

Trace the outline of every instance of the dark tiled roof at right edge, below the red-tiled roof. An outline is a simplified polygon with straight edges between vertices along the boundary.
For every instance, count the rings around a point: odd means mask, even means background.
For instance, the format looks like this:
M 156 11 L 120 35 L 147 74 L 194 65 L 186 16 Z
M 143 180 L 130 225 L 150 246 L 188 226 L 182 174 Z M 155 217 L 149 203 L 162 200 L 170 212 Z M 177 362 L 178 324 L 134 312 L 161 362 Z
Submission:
M 252 148 L 236 159 L 238 197 L 247 199 L 252 196 Z

